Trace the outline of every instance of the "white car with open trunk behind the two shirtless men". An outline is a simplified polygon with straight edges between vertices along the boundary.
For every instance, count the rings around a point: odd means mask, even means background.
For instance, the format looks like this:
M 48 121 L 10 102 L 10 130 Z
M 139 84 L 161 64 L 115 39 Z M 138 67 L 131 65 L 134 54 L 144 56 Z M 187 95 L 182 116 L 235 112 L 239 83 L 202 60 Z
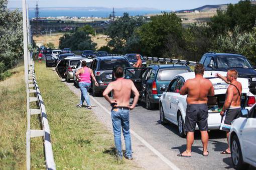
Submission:
M 208 129 L 219 129 L 221 116 L 219 111 L 221 110 L 224 101 L 225 93 L 229 84 L 225 83 L 221 78 L 215 77 L 216 73 L 220 73 L 223 76 L 226 76 L 227 72 L 224 71 L 204 71 L 204 77 L 208 78 L 214 87 L 214 96 L 208 98 Z M 180 136 L 184 137 L 184 122 L 186 116 L 187 108 L 187 95 L 181 95 L 179 93 L 180 88 L 187 79 L 194 78 L 195 72 L 186 72 L 176 75 L 173 80 L 170 82 L 168 87 L 160 87 L 163 92 L 160 97 L 159 110 L 160 110 L 160 121 L 162 124 L 165 124 L 168 121 L 178 125 L 178 133 Z M 247 101 L 254 99 L 254 95 L 249 91 L 248 88 L 248 79 L 246 78 L 237 78 L 242 84 L 242 95 L 248 96 Z M 165 89 L 166 88 L 166 89 Z M 255 102 L 255 100 L 254 100 Z M 243 103 L 245 108 L 250 109 L 254 103 Z M 198 126 L 196 125 L 196 129 Z

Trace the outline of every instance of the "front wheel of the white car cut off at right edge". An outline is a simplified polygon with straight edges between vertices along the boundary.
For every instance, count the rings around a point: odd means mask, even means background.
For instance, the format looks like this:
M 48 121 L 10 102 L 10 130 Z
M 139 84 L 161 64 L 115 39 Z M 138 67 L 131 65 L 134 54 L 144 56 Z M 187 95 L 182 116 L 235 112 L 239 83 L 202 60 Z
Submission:
M 240 147 L 240 142 L 237 135 L 233 135 L 231 138 L 231 159 L 235 169 L 242 170 L 248 169 L 249 164 L 244 163 L 242 160 L 242 151 Z

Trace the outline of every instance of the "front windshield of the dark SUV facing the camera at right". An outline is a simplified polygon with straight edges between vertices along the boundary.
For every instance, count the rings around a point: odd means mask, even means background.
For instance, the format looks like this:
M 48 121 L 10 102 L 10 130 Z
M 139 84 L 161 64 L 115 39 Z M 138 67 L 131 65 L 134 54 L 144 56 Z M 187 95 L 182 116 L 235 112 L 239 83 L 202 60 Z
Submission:
M 251 68 L 246 58 L 237 56 L 218 56 L 217 63 L 219 68 Z

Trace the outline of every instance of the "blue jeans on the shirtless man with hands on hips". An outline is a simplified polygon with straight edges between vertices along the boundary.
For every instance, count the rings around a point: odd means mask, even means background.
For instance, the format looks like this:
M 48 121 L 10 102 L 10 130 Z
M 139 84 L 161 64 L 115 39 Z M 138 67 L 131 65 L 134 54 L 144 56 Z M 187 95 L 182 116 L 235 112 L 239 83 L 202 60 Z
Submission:
M 122 158 L 121 128 L 125 141 L 125 156 L 132 157 L 132 143 L 130 135 L 130 110 L 118 108 L 111 110 L 111 118 L 114 132 L 114 143 L 117 155 Z

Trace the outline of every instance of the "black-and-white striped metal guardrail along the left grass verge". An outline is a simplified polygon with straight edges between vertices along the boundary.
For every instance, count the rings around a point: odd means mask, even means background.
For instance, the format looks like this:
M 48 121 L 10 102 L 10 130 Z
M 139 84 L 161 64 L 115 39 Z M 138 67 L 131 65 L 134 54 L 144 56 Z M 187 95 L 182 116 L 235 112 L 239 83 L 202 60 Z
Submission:
M 45 153 L 45 162 L 46 162 L 46 169 L 56 169 L 56 165 L 53 158 L 53 150 L 52 150 L 52 143 L 51 143 L 51 135 L 50 135 L 50 126 L 47 119 L 46 109 L 44 105 L 44 101 L 42 95 L 40 93 L 39 86 L 36 81 L 35 75 L 35 67 L 34 61 L 31 61 L 33 64 L 30 65 L 29 70 L 29 93 L 35 93 L 36 97 L 30 97 L 28 95 L 29 103 L 37 101 L 38 108 L 30 108 L 28 111 L 28 130 L 26 133 L 27 138 L 27 169 L 30 169 L 30 139 L 33 137 L 43 137 L 44 140 L 44 153 Z M 40 114 L 41 118 L 41 127 L 42 129 L 30 129 L 30 116 L 33 114 Z

